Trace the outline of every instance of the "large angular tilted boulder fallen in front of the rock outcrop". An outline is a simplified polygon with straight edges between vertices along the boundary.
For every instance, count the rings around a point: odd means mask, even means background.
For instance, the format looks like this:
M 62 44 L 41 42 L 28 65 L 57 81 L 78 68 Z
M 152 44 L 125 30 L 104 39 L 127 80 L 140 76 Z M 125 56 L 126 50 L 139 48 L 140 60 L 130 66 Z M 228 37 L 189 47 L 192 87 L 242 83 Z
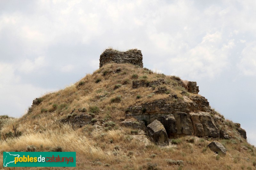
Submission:
M 147 126 L 147 134 L 156 144 L 168 145 L 169 140 L 164 125 L 158 120 L 153 121 Z

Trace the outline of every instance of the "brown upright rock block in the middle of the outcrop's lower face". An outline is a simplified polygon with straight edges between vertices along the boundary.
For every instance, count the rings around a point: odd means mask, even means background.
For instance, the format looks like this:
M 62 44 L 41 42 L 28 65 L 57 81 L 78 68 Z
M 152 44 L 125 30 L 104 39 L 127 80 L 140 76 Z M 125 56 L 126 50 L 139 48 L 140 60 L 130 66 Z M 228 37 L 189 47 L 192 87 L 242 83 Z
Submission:
M 176 120 L 176 134 L 192 135 L 195 133 L 189 114 L 185 112 L 175 112 L 173 116 Z

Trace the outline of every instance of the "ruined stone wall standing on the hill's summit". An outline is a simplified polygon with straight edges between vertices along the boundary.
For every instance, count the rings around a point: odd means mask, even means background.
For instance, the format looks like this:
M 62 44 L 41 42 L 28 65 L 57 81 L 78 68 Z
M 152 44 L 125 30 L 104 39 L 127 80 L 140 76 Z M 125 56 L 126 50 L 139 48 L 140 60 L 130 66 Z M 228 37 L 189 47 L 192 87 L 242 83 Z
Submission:
M 113 49 L 106 49 L 100 55 L 100 67 L 108 63 L 131 63 L 143 68 L 141 50 L 131 49 L 125 52 L 120 52 Z

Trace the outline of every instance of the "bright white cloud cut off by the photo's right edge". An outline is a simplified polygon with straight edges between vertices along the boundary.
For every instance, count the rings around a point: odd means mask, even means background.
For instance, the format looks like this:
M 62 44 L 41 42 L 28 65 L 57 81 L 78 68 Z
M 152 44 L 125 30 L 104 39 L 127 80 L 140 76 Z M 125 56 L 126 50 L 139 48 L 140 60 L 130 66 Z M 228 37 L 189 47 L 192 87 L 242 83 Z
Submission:
M 256 75 L 256 41 L 246 43 L 246 47 L 241 53 L 241 59 L 237 63 L 240 72 L 245 76 Z

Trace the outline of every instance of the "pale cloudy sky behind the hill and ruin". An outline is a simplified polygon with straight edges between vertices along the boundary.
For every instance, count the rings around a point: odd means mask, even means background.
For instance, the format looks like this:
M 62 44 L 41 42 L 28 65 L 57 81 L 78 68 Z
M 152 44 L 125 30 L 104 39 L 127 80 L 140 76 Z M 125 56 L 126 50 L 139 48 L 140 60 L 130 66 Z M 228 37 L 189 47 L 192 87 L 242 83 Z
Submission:
M 196 81 L 256 146 L 256 1 L 2 0 L 0 115 L 99 68 L 108 47 L 138 48 L 144 67 Z

